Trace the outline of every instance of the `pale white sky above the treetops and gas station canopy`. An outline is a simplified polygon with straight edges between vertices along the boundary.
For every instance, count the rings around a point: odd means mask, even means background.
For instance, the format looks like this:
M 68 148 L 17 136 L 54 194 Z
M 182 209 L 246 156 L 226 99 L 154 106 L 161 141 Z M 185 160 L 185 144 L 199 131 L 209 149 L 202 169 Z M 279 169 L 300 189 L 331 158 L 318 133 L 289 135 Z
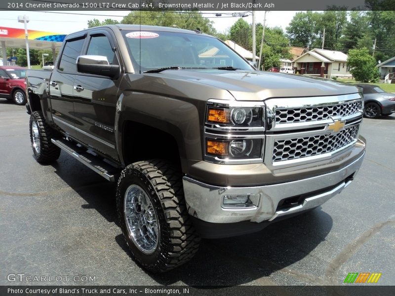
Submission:
M 18 23 L 18 15 L 26 14 L 29 16 L 30 22 L 28 23 L 29 30 L 48 31 L 60 34 L 70 34 L 87 28 L 88 20 L 94 18 L 103 21 L 107 18 L 122 20 L 122 16 L 126 15 L 129 11 L 56 11 L 53 12 L 39 12 L 39 11 L 0 11 L 0 26 L 23 29 L 24 25 Z M 215 13 L 206 14 L 214 22 L 214 28 L 218 32 L 224 33 L 229 29 L 238 19 L 238 17 L 225 17 L 225 13 L 232 13 L 236 11 L 221 11 L 222 17 L 216 17 Z M 79 13 L 91 15 L 78 15 L 78 14 L 63 14 L 63 13 Z M 269 11 L 266 14 L 267 27 L 281 27 L 284 31 L 288 26 L 296 11 Z M 263 24 L 264 11 L 256 12 L 256 22 Z M 252 16 L 243 18 L 247 23 L 252 23 Z

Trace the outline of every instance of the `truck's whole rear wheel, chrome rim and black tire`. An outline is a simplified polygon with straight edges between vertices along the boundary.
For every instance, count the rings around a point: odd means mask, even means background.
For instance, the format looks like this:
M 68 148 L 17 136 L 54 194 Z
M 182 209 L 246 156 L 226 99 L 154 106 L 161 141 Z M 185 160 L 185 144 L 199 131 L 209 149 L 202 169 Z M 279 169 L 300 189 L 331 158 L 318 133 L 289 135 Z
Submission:
M 49 163 L 59 158 L 60 148 L 51 142 L 56 132 L 46 124 L 41 111 L 30 115 L 30 142 L 33 155 L 40 163 Z

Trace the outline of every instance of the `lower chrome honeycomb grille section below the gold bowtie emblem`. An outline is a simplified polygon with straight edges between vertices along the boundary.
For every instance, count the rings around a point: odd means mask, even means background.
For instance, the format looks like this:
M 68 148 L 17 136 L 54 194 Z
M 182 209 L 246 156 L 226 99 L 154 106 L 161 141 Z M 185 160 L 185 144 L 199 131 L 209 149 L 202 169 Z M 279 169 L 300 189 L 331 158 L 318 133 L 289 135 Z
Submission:
M 273 162 L 314 156 L 343 148 L 356 140 L 358 129 L 359 124 L 356 124 L 336 134 L 276 140 Z

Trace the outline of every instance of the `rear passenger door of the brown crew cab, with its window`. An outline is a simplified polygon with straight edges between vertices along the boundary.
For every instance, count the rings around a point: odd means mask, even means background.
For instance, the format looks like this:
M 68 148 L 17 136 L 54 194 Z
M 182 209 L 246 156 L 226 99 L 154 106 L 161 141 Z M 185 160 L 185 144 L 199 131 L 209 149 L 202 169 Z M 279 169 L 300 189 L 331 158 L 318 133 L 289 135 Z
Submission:
M 75 129 L 73 87 L 77 76 L 77 57 L 81 54 L 85 35 L 65 40 L 59 63 L 48 82 L 52 119 L 63 131 L 72 137 L 78 135 Z

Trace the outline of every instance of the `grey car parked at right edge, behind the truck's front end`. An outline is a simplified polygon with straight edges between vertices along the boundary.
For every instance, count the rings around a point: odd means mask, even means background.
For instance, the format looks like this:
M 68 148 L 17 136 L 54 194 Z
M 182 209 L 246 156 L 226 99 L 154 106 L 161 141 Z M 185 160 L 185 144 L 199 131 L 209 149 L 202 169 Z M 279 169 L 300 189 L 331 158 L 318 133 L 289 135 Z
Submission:
M 388 116 L 395 112 L 395 94 L 385 92 L 378 85 L 369 83 L 356 84 L 362 87 L 364 97 L 363 115 L 367 118 Z

